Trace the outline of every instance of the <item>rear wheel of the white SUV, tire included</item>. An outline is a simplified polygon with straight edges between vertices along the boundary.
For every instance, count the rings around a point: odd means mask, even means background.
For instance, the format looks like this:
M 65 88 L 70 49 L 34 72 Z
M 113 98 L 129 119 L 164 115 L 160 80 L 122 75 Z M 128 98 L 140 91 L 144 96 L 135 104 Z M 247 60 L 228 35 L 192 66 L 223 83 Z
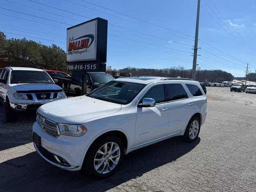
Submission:
M 193 142 L 198 137 L 200 132 L 200 119 L 198 117 L 192 117 L 188 122 L 188 126 L 184 133 L 184 139 L 187 142 Z

